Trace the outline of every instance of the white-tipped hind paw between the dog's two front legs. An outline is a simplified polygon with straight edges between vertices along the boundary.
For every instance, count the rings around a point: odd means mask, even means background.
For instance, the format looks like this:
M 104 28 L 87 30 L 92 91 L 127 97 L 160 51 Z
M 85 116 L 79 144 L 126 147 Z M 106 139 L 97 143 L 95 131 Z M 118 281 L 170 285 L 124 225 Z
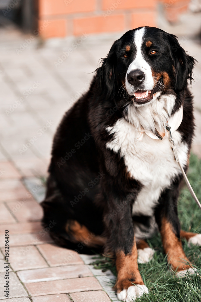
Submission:
M 138 254 L 137 262 L 149 262 L 155 253 L 154 249 L 150 248 L 149 244 L 143 239 L 136 239 L 136 245 Z

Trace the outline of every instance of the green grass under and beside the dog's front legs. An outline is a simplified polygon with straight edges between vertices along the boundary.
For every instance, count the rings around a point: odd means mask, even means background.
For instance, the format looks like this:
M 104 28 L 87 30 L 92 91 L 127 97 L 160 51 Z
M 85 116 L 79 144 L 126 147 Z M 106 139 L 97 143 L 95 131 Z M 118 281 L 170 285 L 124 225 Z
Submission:
M 188 178 L 199 201 L 201 201 L 201 160 L 195 155 L 190 157 Z M 178 201 L 178 213 L 181 228 L 185 231 L 201 233 L 201 211 L 190 192 L 184 186 Z M 184 251 L 198 272 L 185 278 L 176 278 L 169 268 L 166 256 L 163 253 L 160 235 L 156 234 L 148 241 L 155 249 L 154 258 L 146 264 L 139 264 L 139 270 L 144 283 L 149 289 L 149 294 L 136 299 L 139 302 L 200 302 L 201 301 L 201 250 L 198 246 L 188 247 L 184 241 Z M 116 275 L 114 262 L 99 255 L 93 262 L 94 268 L 111 271 Z

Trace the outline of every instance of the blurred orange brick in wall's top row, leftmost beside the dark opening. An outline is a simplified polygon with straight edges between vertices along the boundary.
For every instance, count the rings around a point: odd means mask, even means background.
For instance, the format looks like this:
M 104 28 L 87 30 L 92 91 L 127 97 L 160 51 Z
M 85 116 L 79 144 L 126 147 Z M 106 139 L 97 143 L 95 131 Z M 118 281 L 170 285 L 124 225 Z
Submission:
M 58 15 L 58 14 L 73 14 L 94 11 L 96 7 L 95 0 L 40 0 L 39 15 Z

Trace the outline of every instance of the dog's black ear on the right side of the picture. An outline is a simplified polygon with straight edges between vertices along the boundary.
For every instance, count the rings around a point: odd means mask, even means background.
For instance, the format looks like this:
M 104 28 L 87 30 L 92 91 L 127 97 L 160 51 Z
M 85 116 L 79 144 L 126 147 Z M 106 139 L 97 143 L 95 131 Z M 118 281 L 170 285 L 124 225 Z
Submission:
M 193 80 L 193 67 L 196 63 L 196 59 L 187 55 L 185 50 L 179 45 L 175 35 L 168 34 L 168 39 L 171 45 L 171 55 L 175 68 L 174 89 L 179 92 L 187 85 L 187 79 L 190 79 L 190 83 Z

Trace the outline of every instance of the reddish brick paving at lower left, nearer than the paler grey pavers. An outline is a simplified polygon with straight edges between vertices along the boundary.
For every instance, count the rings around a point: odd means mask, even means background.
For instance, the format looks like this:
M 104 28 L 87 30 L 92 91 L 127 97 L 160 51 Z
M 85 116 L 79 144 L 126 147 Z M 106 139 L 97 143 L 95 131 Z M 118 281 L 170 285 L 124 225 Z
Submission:
M 93 256 L 55 246 L 49 230 L 41 226 L 42 209 L 24 186 L 23 176 L 13 162 L 2 163 L 5 173 L 0 180 L 0 300 L 8 300 L 4 276 L 9 262 L 11 302 L 111 301 L 103 291 L 114 279 L 111 272 L 95 270 L 90 265 Z M 9 261 L 4 260 L 5 230 L 9 230 Z

